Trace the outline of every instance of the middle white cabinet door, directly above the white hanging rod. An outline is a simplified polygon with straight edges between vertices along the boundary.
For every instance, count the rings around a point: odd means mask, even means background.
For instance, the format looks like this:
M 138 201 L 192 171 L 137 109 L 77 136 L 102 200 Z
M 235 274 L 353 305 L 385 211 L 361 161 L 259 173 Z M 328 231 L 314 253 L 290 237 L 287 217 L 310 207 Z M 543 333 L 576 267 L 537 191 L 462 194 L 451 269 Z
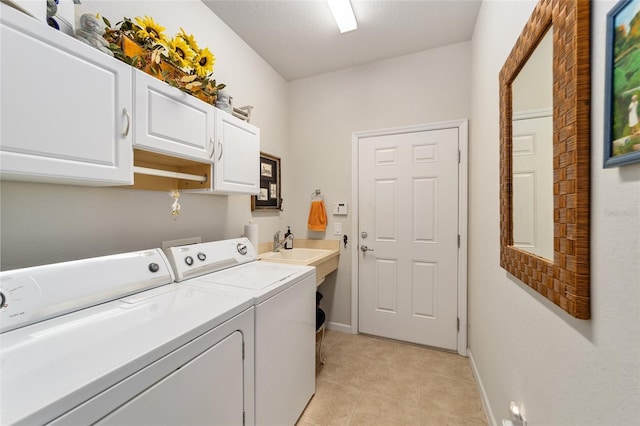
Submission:
M 135 70 L 134 146 L 173 157 L 211 162 L 214 107 Z

